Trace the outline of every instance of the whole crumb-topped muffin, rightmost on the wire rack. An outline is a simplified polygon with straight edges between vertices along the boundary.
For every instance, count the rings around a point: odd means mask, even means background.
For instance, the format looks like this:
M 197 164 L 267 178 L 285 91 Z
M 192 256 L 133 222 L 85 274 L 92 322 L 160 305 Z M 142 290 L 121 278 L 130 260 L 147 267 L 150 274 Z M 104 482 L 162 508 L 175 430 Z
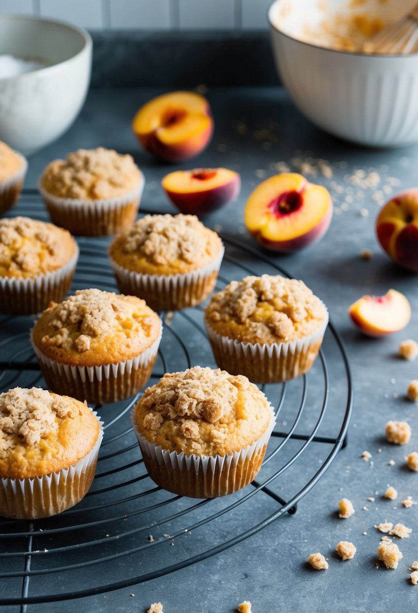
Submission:
M 279 275 L 232 281 L 205 310 L 216 364 L 255 383 L 306 373 L 327 324 L 327 308 L 305 283 Z

